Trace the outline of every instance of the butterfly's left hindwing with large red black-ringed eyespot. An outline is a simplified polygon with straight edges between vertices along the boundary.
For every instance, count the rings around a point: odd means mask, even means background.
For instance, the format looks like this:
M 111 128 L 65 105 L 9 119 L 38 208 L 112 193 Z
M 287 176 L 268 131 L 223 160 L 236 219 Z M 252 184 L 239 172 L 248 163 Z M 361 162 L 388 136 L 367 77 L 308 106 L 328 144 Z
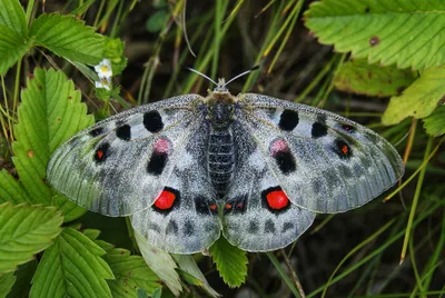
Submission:
M 161 196 L 175 198 L 171 208 L 158 200 L 131 216 L 136 230 L 152 245 L 172 254 L 194 254 L 211 246 L 220 235 L 216 192 L 208 179 L 209 127 L 199 125 L 178 157 Z

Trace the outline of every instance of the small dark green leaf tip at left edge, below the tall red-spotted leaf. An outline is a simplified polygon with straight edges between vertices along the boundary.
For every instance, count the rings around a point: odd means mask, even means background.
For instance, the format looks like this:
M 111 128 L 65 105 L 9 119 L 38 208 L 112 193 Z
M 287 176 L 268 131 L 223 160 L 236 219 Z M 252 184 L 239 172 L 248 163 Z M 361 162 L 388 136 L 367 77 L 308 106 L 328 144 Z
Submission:
M 0 171 L 0 203 L 32 202 L 23 187 L 7 170 Z

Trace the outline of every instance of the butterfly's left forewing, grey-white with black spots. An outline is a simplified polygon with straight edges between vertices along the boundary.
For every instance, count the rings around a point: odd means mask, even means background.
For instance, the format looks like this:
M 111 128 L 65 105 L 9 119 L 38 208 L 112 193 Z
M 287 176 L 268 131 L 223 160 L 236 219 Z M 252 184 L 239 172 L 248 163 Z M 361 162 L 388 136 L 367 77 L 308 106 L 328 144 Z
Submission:
M 110 117 L 79 132 L 52 155 L 49 182 L 61 193 L 108 216 L 150 207 L 204 121 L 204 98 L 180 96 Z

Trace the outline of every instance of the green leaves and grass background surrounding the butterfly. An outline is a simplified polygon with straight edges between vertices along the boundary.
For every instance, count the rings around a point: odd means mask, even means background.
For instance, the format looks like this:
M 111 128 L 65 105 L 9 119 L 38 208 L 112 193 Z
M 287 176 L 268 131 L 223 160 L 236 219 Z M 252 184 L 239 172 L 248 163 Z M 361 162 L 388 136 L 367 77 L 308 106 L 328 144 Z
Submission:
M 441 0 L 1 0 L 0 297 L 444 296 L 444 12 Z M 110 90 L 95 88 L 103 58 Z M 211 88 L 181 66 L 229 79 L 255 64 L 233 93 L 367 125 L 403 156 L 402 181 L 318 215 L 286 249 L 221 239 L 209 256 L 156 250 L 46 182 L 50 153 L 95 119 Z

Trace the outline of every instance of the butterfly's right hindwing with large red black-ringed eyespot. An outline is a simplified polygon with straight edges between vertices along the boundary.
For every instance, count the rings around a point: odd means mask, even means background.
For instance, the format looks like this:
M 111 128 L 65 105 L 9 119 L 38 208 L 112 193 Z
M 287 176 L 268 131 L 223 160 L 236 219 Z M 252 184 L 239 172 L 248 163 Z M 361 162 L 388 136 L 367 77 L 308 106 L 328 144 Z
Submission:
M 244 250 L 283 248 L 310 227 L 315 215 L 286 198 L 251 132 L 238 121 L 233 129 L 237 167 L 225 197 L 222 232 Z

